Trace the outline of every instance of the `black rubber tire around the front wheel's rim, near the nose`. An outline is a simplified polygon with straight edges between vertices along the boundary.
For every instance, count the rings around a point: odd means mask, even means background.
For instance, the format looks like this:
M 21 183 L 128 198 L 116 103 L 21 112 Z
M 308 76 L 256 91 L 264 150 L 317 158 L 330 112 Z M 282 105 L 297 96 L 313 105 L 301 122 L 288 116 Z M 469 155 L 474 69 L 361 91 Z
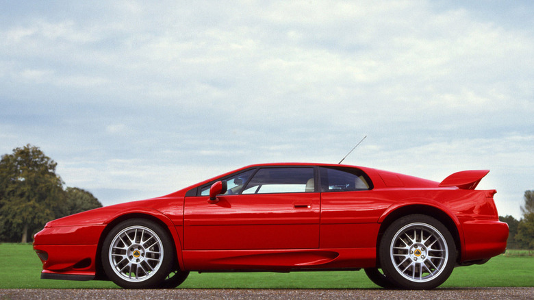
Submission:
M 115 236 L 123 229 L 131 226 L 144 226 L 151 229 L 162 241 L 163 247 L 163 260 L 160 268 L 154 275 L 151 275 L 148 279 L 142 282 L 128 282 L 127 280 L 118 276 L 110 263 L 108 254 L 110 251 L 111 243 Z M 101 251 L 101 262 L 105 274 L 116 285 L 122 288 L 157 288 L 158 285 L 164 281 L 166 276 L 170 273 L 175 262 L 175 253 L 173 248 L 173 241 L 169 238 L 168 233 L 160 225 L 153 221 L 149 221 L 144 218 L 132 218 L 118 223 L 105 237 L 103 241 Z

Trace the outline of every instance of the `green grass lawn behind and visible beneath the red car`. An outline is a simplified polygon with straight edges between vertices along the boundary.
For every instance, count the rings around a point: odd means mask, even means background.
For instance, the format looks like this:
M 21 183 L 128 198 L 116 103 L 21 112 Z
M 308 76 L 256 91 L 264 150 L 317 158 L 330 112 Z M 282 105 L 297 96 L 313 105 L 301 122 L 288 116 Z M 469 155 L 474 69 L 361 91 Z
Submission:
M 0 288 L 118 288 L 112 282 L 40 279 L 42 264 L 28 244 L 0 244 Z M 441 286 L 534 286 L 532 251 L 507 251 L 486 264 L 455 268 Z M 363 271 L 191 273 L 180 288 L 377 288 Z

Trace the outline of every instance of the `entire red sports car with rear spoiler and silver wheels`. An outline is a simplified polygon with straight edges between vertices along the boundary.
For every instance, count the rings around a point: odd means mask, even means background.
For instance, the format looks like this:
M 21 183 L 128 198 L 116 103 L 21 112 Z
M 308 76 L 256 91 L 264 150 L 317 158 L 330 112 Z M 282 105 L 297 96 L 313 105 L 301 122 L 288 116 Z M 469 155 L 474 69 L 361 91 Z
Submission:
M 35 236 L 44 279 L 175 288 L 190 271 L 364 269 L 429 289 L 506 249 L 489 171 L 441 183 L 341 164 L 257 164 L 164 197 L 66 216 Z

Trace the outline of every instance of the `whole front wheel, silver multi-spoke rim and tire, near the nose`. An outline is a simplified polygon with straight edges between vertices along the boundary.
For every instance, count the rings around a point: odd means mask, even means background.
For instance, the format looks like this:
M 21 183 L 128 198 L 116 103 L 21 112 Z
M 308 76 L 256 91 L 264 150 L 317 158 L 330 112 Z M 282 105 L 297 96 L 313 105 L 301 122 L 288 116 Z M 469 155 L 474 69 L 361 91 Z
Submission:
M 133 218 L 116 225 L 103 242 L 105 274 L 123 288 L 158 288 L 175 262 L 173 242 L 156 223 Z

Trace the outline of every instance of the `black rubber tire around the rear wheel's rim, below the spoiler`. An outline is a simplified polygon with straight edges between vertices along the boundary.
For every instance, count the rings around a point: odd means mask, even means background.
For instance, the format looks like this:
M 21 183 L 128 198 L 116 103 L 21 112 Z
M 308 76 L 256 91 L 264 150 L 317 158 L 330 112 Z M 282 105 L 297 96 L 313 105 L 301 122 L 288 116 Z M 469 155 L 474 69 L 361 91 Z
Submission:
M 399 229 L 411 223 L 425 223 L 431 225 L 442 234 L 447 243 L 448 260 L 446 262 L 446 265 L 444 266 L 444 269 L 442 273 L 440 273 L 440 275 L 437 275 L 435 278 L 431 279 L 428 282 L 412 282 L 406 279 L 405 277 L 403 277 L 403 275 L 398 273 L 398 271 L 394 267 L 394 262 L 392 262 L 390 258 L 390 246 L 395 234 L 398 232 Z M 381 264 L 382 271 L 384 272 L 387 279 L 392 284 L 394 284 L 394 286 L 396 286 L 397 288 L 404 289 L 428 290 L 440 286 L 450 276 L 450 273 L 453 272 L 457 257 L 455 240 L 450 234 L 447 227 L 443 225 L 440 221 L 437 221 L 435 218 L 424 214 L 411 214 L 408 216 L 403 216 L 402 218 L 399 218 L 398 220 L 394 221 L 385 230 L 381 238 L 379 247 L 379 261 Z

